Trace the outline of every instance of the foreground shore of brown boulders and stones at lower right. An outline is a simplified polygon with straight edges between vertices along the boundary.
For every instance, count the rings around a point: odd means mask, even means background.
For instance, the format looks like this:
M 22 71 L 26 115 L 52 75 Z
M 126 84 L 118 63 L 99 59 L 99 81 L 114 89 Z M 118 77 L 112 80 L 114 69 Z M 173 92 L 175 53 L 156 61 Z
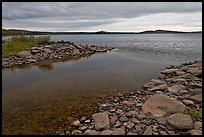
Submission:
M 140 91 L 111 96 L 59 135 L 202 135 L 202 61 L 168 66 Z

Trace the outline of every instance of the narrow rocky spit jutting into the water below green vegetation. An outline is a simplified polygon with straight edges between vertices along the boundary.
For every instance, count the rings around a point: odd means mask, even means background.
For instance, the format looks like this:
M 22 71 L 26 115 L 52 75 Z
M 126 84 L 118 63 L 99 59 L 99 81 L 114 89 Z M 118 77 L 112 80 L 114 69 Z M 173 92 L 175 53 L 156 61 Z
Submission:
M 66 57 L 83 57 L 95 53 L 107 52 L 114 48 L 95 45 L 76 45 L 69 41 L 47 42 L 37 44 L 31 49 L 23 50 L 7 58 L 2 56 L 2 68 L 36 64 L 44 60 L 60 60 Z

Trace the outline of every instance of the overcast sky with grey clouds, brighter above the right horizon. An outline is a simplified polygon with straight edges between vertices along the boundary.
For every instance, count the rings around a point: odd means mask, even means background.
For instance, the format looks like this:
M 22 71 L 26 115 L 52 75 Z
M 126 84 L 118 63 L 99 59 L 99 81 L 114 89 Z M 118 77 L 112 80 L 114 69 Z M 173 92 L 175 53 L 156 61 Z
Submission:
M 202 2 L 3 2 L 2 27 L 37 31 L 202 30 Z

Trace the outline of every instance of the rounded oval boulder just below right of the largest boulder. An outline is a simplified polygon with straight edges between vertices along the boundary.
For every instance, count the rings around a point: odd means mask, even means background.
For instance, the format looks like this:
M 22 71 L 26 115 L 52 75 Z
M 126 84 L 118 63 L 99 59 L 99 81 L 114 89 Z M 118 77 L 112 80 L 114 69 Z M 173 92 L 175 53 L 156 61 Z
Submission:
M 169 116 L 167 122 L 176 129 L 191 129 L 193 127 L 191 116 L 181 113 Z

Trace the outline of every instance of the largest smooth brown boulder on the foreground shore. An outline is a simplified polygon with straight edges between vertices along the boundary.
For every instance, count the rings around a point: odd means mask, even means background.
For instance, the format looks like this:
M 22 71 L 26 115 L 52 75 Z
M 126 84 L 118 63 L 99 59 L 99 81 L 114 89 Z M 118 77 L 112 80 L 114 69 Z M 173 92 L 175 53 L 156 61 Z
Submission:
M 151 113 L 153 116 L 162 117 L 172 113 L 183 112 L 186 106 L 167 95 L 155 94 L 142 106 L 144 113 Z

